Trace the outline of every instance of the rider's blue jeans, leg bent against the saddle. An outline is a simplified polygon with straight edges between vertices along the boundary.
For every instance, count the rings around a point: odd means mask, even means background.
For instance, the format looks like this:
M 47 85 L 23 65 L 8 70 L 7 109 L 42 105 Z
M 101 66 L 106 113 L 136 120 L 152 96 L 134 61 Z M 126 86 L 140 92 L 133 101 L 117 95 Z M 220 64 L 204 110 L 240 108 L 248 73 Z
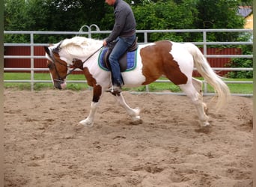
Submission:
M 109 55 L 109 63 L 112 69 L 112 83 L 116 86 L 124 85 L 123 79 L 121 78 L 121 70 L 118 63 L 119 58 L 124 55 L 129 46 L 135 41 L 135 34 L 131 37 L 118 37 L 116 44 L 111 54 Z

